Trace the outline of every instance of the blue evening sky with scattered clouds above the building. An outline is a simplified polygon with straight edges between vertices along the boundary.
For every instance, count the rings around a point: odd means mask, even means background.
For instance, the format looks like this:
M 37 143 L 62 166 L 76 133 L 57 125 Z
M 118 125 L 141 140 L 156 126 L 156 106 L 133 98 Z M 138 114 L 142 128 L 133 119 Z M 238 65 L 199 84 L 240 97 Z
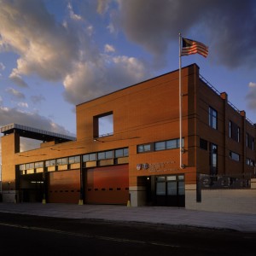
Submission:
M 0 0 L 0 126 L 75 136 L 77 104 L 177 70 L 179 32 L 209 47 L 182 66 L 256 123 L 256 1 Z

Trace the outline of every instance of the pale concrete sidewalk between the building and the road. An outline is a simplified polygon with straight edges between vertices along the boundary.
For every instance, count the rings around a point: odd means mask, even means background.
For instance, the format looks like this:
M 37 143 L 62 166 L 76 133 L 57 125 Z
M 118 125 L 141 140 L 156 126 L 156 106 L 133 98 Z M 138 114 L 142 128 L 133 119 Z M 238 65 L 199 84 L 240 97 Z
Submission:
M 55 218 L 89 218 L 107 221 L 188 225 L 203 228 L 256 232 L 256 215 L 254 214 L 203 212 L 173 207 L 0 203 L 0 212 Z

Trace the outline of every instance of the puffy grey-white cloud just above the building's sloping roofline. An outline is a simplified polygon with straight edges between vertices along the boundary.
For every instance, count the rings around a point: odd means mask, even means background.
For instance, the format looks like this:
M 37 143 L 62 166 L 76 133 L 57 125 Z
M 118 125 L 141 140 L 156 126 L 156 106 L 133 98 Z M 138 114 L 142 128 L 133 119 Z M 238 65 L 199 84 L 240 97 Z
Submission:
M 74 72 L 67 75 L 64 96 L 67 102 L 79 104 L 147 77 L 148 68 L 137 58 L 101 55 L 96 63 L 78 63 Z

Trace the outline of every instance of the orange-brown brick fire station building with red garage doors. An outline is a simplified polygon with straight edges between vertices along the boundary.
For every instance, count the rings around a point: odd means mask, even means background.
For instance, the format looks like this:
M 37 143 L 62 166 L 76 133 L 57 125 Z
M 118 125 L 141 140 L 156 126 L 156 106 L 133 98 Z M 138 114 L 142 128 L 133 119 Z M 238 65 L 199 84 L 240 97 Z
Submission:
M 3 201 L 186 207 L 201 202 L 201 189 L 250 187 L 255 125 L 193 64 L 182 69 L 180 142 L 178 78 L 79 104 L 76 139 L 3 126 Z M 44 143 L 20 152 L 20 137 Z

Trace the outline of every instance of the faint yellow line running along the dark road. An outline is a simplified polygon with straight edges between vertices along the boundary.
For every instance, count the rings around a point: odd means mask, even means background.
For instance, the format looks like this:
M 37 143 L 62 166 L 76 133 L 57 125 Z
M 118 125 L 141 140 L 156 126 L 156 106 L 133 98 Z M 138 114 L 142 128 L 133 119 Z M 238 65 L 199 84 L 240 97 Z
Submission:
M 13 228 L 19 228 L 19 229 L 26 229 L 26 230 L 39 230 L 39 231 L 44 231 L 44 232 L 52 232 L 52 233 L 68 235 L 68 236 L 96 238 L 96 239 L 101 239 L 101 240 L 105 240 L 105 241 L 119 241 L 119 242 L 127 242 L 127 243 L 132 242 L 132 243 L 139 243 L 139 244 L 149 244 L 149 245 L 154 245 L 154 246 L 159 246 L 159 247 L 180 247 L 179 245 L 162 243 L 162 242 L 158 242 L 158 241 L 140 241 L 140 240 L 131 240 L 131 239 L 125 239 L 125 238 L 111 237 L 111 236 L 95 236 L 95 235 L 90 235 L 87 233 L 75 233 L 75 232 L 68 232 L 68 231 L 63 231 L 63 230 L 52 230 L 52 229 L 45 229 L 45 228 L 39 228 L 39 227 L 30 227 L 30 226 L 20 225 L 20 224 L 0 223 L 0 225 L 13 227 Z

